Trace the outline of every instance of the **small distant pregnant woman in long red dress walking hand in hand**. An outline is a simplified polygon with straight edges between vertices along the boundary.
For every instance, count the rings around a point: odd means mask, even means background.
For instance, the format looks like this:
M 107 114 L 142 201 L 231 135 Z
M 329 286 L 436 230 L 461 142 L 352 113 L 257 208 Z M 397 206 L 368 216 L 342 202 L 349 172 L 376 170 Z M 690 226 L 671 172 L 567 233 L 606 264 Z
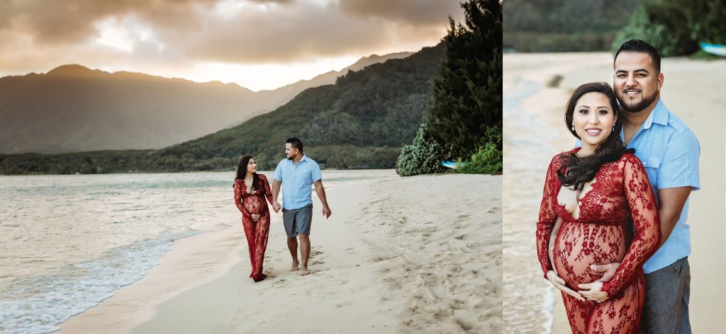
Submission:
M 234 178 L 234 204 L 242 212 L 242 226 L 245 227 L 250 249 L 250 278 L 259 282 L 267 278 L 262 273 L 262 262 L 267 248 L 270 230 L 270 212 L 267 201 L 272 204 L 272 192 L 265 175 L 257 174 L 257 164 L 252 156 L 242 156 Z

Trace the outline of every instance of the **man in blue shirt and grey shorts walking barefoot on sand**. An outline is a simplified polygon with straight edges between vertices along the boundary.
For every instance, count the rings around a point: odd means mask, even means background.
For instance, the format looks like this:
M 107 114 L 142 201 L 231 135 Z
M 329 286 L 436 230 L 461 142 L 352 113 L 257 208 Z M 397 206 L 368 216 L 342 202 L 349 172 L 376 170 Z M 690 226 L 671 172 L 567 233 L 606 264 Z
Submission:
M 280 210 L 277 195 L 280 194 L 280 185 L 285 185 L 282 187 L 282 222 L 287 233 L 287 248 L 290 249 L 290 255 L 293 256 L 293 267 L 290 270 L 300 269 L 301 275 L 307 275 L 310 273 L 308 259 L 310 258 L 309 237 L 313 208 L 311 187 L 313 185 L 322 202 L 323 216 L 327 219 L 332 212 L 327 206 L 320 166 L 303 154 L 303 143 L 300 139 L 287 139 L 285 156 L 287 159 L 282 159 L 274 169 L 272 207 L 276 212 Z M 298 262 L 298 239 L 296 237 L 300 238 L 300 262 Z

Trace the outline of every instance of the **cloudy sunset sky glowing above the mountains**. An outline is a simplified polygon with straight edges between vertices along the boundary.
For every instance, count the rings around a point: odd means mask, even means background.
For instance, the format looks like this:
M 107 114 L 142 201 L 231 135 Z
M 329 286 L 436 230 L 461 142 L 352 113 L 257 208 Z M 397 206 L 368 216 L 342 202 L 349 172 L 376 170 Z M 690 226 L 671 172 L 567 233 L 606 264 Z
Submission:
M 82 64 L 274 89 L 446 35 L 459 0 L 0 0 L 0 76 Z

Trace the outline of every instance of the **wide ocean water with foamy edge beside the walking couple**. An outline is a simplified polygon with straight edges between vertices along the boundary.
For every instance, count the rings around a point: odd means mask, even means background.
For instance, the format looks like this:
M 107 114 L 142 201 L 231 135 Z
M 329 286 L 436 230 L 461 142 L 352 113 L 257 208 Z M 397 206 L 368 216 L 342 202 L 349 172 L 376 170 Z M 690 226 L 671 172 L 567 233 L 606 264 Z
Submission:
M 393 175 L 323 171 L 323 183 Z M 58 330 L 144 277 L 175 239 L 241 225 L 233 179 L 234 172 L 0 176 L 0 333 Z

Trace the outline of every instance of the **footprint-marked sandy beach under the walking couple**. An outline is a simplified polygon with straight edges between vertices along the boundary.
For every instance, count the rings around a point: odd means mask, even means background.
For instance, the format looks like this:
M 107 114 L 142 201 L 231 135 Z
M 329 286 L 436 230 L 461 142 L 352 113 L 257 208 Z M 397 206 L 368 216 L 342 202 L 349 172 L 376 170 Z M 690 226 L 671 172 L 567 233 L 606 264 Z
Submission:
M 176 241 L 158 267 L 61 333 L 502 330 L 502 176 L 391 171 L 327 188 L 327 198 L 329 220 L 313 196 L 310 275 L 288 271 L 273 213 L 267 280 L 248 277 L 240 222 Z

